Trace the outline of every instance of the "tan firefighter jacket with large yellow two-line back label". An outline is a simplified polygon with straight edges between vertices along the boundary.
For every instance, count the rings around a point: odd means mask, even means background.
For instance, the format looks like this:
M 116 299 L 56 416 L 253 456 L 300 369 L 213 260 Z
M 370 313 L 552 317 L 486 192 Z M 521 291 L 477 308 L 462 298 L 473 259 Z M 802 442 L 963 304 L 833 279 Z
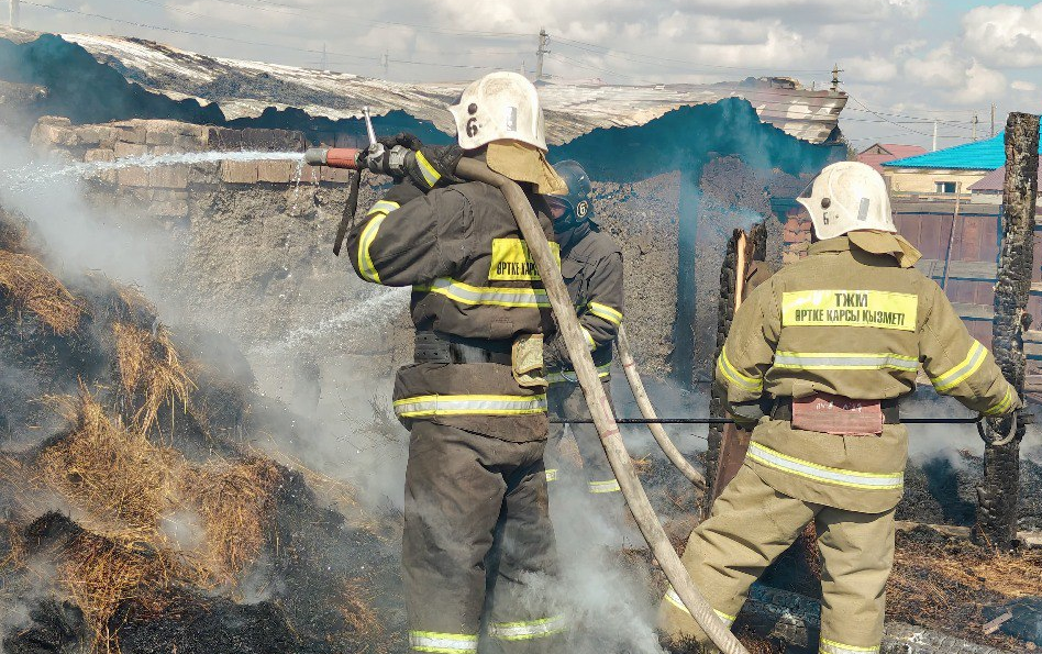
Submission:
M 969 409 L 986 415 L 1018 409 L 1020 398 L 991 354 L 940 287 L 911 267 L 918 253 L 908 256 L 902 244 L 866 231 L 821 241 L 754 289 L 717 359 L 728 403 L 765 393 L 900 398 L 914 390 L 921 366 L 938 392 Z M 745 465 L 785 495 L 878 513 L 901 498 L 907 439 L 899 423 L 850 436 L 767 417 L 753 431 Z

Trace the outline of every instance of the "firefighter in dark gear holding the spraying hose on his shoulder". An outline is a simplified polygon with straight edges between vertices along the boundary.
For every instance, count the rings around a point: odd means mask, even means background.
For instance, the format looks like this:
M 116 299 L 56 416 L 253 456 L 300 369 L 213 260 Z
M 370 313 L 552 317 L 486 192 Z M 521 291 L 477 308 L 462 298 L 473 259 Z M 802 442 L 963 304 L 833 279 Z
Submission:
M 540 145 L 532 84 L 491 74 L 452 112 L 461 154 L 520 182 L 551 236 L 541 193 L 563 182 Z M 395 413 L 411 431 L 402 539 L 409 642 L 413 652 L 443 654 L 473 654 L 479 641 L 483 652 L 546 652 L 566 627 L 540 595 L 557 566 L 543 465 L 550 301 L 502 193 L 448 182 L 452 147 L 419 149 L 423 179 L 406 175 L 347 241 L 363 279 L 412 286 L 414 363 L 399 369 L 393 392 Z

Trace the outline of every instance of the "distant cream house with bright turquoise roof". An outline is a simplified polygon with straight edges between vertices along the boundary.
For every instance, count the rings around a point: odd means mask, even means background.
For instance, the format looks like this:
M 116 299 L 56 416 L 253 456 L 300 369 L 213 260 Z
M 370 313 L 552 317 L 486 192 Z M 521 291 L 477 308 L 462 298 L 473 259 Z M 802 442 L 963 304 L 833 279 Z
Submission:
M 883 164 L 894 195 L 968 193 L 969 187 L 1006 165 L 1005 134 Z

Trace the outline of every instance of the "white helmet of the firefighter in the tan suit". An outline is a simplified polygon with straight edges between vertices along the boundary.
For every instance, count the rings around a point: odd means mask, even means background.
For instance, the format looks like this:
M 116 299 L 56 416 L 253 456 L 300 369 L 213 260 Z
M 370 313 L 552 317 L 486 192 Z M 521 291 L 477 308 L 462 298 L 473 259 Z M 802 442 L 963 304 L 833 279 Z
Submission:
M 883 176 L 860 162 L 825 166 L 796 201 L 810 212 L 821 241 L 854 230 L 897 233 Z

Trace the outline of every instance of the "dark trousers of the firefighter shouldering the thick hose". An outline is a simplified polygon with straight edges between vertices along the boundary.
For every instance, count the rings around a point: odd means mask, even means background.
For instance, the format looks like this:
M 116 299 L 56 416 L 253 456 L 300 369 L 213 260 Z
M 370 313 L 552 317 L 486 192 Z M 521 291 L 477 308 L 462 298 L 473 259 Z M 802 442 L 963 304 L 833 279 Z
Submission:
M 412 652 L 552 652 L 557 553 L 544 441 L 511 443 L 413 423 L 402 576 Z

